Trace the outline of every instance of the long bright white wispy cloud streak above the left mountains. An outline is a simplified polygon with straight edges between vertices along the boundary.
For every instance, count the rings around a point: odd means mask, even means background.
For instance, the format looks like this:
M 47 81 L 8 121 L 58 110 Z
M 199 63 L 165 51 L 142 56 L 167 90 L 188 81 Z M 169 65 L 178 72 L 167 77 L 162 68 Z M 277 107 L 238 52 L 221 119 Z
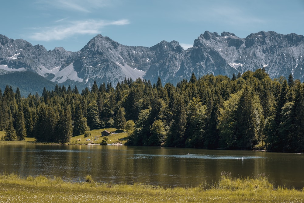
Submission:
M 117 21 L 105 21 L 105 20 L 86 20 L 86 21 L 74 21 L 69 25 L 60 25 L 54 27 L 36 28 L 41 30 L 35 32 L 29 36 L 29 38 L 37 41 L 51 41 L 62 40 L 77 34 L 98 34 L 100 29 L 105 26 L 111 25 L 127 25 L 129 21 L 126 19 Z

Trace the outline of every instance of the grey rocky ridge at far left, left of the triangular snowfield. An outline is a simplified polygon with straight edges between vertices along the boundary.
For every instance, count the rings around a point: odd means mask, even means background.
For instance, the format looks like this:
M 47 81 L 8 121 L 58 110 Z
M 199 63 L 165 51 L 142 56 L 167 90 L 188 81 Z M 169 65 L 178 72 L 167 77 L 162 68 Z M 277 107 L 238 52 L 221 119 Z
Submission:
M 52 77 L 53 72 L 60 67 L 73 52 L 62 47 L 47 51 L 42 45 L 33 46 L 29 42 L 13 40 L 0 35 L 0 68 L 1 74 L 11 71 L 32 71 L 43 77 Z M 7 68 L 3 68 L 7 66 Z M 6 70 L 8 69 L 8 70 Z M 50 78 L 49 77 L 49 78 Z

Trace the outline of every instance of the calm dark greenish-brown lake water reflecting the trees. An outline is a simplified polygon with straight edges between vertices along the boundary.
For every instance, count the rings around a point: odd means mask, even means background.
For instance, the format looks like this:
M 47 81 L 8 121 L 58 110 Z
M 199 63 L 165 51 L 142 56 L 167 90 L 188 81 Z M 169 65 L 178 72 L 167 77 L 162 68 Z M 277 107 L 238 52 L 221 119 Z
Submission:
M 47 175 L 84 181 L 195 187 L 219 180 L 222 171 L 261 173 L 275 186 L 304 187 L 304 154 L 120 145 L 0 144 L 0 173 Z

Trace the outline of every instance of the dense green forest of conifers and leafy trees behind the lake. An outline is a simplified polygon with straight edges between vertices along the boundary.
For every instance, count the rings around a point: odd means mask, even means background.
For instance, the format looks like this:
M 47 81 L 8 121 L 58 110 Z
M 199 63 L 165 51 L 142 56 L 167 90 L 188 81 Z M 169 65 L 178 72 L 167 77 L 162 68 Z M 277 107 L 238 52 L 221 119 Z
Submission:
M 124 79 L 78 91 L 56 85 L 41 96 L 0 90 L 4 140 L 69 142 L 90 129 L 124 129 L 128 145 L 304 151 L 304 84 L 264 69 L 205 75 L 176 86 Z

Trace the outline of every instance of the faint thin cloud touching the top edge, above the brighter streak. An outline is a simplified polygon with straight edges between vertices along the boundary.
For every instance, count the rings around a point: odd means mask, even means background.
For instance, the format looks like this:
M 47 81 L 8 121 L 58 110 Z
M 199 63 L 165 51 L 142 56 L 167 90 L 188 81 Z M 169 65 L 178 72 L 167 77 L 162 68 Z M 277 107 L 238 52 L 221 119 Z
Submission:
M 92 9 L 98 9 L 112 4 L 109 0 L 38 0 L 38 3 L 46 7 L 87 13 L 91 12 Z

